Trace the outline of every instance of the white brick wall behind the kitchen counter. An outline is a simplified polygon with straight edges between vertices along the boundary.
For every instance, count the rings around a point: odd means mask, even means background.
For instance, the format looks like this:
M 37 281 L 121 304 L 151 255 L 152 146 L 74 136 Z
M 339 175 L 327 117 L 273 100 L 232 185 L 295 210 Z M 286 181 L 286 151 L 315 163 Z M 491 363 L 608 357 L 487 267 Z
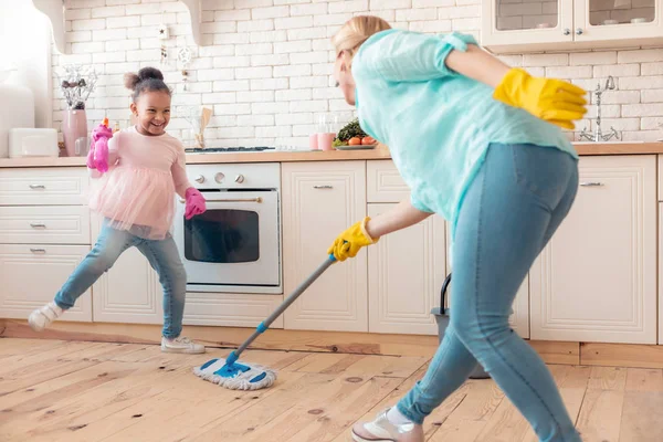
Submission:
M 638 8 L 645 8 L 651 1 L 639 0 Z M 212 146 L 305 147 L 320 113 L 335 112 L 341 119 L 349 119 L 352 109 L 333 87 L 330 78 L 334 53 L 329 36 L 352 15 L 372 13 L 401 29 L 431 33 L 459 30 L 475 36 L 481 19 L 480 0 L 204 0 L 202 38 L 212 45 L 197 48 L 180 1 L 66 0 L 65 3 L 70 30 L 66 42 L 72 54 L 55 54 L 53 65 L 57 70 L 66 63 L 94 63 L 102 74 L 87 105 L 91 125 L 107 115 L 126 127 L 128 91 L 122 86 L 123 73 L 154 65 L 164 71 L 175 91 L 175 115 L 169 131 L 183 136 L 188 126 L 177 116 L 178 112 L 183 106 L 204 105 L 214 110 L 206 133 Z M 541 18 L 548 20 L 555 4 L 549 0 L 503 0 L 502 19 L 532 25 Z M 599 17 L 600 8 L 592 12 Z M 166 42 L 169 62 L 164 66 L 158 63 L 160 41 L 156 38 L 156 25 L 161 20 L 171 34 Z M 185 45 L 196 54 L 189 66 L 186 92 L 181 66 L 175 62 L 177 50 Z M 627 140 L 663 137 L 660 127 L 663 50 L 503 59 L 534 75 L 568 78 L 589 90 L 612 75 L 618 91 L 603 96 L 604 125 L 614 126 Z M 65 106 L 57 90 L 54 96 L 59 128 Z M 596 115 L 593 105 L 592 115 Z M 579 129 L 586 124 L 591 128 L 590 122 L 581 122 Z

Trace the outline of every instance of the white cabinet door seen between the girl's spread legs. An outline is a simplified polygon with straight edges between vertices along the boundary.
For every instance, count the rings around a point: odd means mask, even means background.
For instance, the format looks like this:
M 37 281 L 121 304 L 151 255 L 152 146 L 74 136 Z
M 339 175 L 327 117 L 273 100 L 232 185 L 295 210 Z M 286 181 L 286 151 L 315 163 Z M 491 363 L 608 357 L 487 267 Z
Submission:
M 101 217 L 93 214 L 93 241 L 99 234 Z M 164 293 L 157 273 L 135 248 L 124 252 L 93 286 L 96 323 L 161 324 Z

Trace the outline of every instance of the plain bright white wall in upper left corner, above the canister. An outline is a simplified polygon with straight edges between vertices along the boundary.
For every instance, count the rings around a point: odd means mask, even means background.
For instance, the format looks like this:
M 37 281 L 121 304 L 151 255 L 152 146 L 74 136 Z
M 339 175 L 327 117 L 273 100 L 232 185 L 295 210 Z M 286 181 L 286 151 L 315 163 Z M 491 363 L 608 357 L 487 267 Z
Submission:
M 36 127 L 53 125 L 51 24 L 31 0 L 0 1 L 0 70 L 14 65 L 9 83 L 32 90 Z

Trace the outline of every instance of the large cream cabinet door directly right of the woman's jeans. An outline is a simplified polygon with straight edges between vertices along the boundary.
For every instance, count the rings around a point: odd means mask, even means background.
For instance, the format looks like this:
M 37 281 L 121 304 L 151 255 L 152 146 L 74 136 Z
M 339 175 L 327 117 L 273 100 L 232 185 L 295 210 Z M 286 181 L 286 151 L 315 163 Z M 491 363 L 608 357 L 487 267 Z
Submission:
M 532 338 L 656 343 L 656 159 L 583 157 L 576 203 L 530 271 Z

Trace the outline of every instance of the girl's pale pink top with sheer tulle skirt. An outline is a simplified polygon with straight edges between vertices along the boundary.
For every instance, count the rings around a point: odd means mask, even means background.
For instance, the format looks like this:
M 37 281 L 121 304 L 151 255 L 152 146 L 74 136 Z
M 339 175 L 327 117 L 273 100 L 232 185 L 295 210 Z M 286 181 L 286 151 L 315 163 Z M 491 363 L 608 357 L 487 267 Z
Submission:
M 185 198 L 191 187 L 185 169 L 185 148 L 175 137 L 146 136 L 135 127 L 108 141 L 109 170 L 93 192 L 90 208 L 113 228 L 149 239 L 169 235 L 175 194 Z M 96 170 L 93 177 L 98 177 Z

